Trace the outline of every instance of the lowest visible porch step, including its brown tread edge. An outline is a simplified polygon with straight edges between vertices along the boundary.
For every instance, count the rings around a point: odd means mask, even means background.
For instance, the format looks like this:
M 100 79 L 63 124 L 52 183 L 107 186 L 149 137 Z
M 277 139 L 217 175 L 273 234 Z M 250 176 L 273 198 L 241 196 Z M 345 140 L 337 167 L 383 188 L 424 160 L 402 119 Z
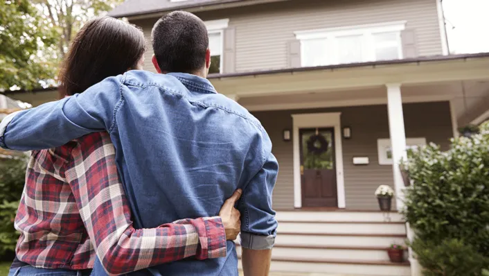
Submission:
M 241 259 L 238 268 L 242 268 Z M 409 263 L 393 264 L 388 261 L 336 261 L 304 258 L 272 258 L 270 270 L 274 273 L 310 273 L 314 276 L 409 276 Z M 279 275 L 279 274 L 278 274 Z

